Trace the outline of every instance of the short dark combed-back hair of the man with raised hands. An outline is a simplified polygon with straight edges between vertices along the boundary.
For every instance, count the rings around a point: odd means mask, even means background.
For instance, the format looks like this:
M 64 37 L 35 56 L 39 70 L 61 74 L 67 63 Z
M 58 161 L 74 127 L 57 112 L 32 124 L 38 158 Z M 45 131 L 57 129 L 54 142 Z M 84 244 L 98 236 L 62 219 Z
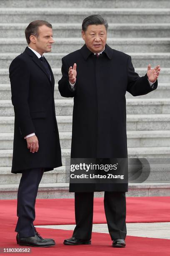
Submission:
M 82 31 L 86 31 L 89 25 L 105 25 L 106 31 L 109 26 L 107 20 L 99 14 L 86 17 L 82 22 Z

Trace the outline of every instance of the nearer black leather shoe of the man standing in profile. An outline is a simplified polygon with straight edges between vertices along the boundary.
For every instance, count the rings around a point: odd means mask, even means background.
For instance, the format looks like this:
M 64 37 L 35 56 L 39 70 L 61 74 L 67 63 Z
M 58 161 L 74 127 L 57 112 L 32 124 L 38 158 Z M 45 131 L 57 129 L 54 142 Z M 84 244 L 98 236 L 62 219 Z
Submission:
M 55 241 L 53 239 L 44 239 L 39 233 L 36 233 L 35 236 L 25 238 L 19 238 L 17 234 L 16 239 L 20 246 L 50 247 L 55 245 Z

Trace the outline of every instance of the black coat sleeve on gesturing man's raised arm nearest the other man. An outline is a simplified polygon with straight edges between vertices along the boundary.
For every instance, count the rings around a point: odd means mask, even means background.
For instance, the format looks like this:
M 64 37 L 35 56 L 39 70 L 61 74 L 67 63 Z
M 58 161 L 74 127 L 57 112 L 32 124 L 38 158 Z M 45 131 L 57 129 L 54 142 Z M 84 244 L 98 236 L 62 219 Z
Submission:
M 61 68 L 62 78 L 60 79 L 60 81 L 58 81 L 58 90 L 62 97 L 74 97 L 76 94 L 76 83 L 74 86 L 74 90 L 72 90 L 69 83 L 68 70 L 69 70 L 68 64 L 65 61 L 65 59 L 62 58 L 62 68 Z

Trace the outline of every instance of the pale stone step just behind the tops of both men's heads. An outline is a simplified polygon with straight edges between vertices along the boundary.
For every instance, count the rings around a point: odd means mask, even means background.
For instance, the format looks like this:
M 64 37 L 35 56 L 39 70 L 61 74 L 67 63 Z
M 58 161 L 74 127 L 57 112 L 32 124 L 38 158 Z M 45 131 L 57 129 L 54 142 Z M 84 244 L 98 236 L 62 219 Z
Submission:
M 97 6 L 98 7 L 98 6 Z M 104 16 L 108 23 L 169 23 L 169 8 L 1 8 L 0 23 L 82 23 L 92 14 Z

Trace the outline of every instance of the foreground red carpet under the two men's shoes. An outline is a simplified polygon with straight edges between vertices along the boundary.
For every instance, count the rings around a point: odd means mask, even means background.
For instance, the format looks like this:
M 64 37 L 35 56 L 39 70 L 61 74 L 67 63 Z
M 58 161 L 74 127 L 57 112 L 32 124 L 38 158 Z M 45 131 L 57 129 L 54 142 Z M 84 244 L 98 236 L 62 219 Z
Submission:
M 15 242 L 15 232 L 13 225 L 0 225 L 0 247 L 23 248 Z M 108 234 L 92 233 L 92 245 L 64 246 L 63 240 L 72 235 L 69 230 L 54 230 L 46 228 L 37 229 L 43 237 L 52 237 L 56 245 L 50 248 L 31 247 L 28 255 L 36 256 L 169 256 L 170 240 L 158 238 L 142 238 L 127 236 L 125 248 L 113 248 L 112 241 Z M 3 242 L 2 242 L 3 241 Z M 26 248 L 26 247 L 25 247 Z M 27 247 L 30 248 L 30 247 Z M 2 253 L 1 255 L 5 255 Z M 10 253 L 9 255 L 26 255 L 23 253 Z

